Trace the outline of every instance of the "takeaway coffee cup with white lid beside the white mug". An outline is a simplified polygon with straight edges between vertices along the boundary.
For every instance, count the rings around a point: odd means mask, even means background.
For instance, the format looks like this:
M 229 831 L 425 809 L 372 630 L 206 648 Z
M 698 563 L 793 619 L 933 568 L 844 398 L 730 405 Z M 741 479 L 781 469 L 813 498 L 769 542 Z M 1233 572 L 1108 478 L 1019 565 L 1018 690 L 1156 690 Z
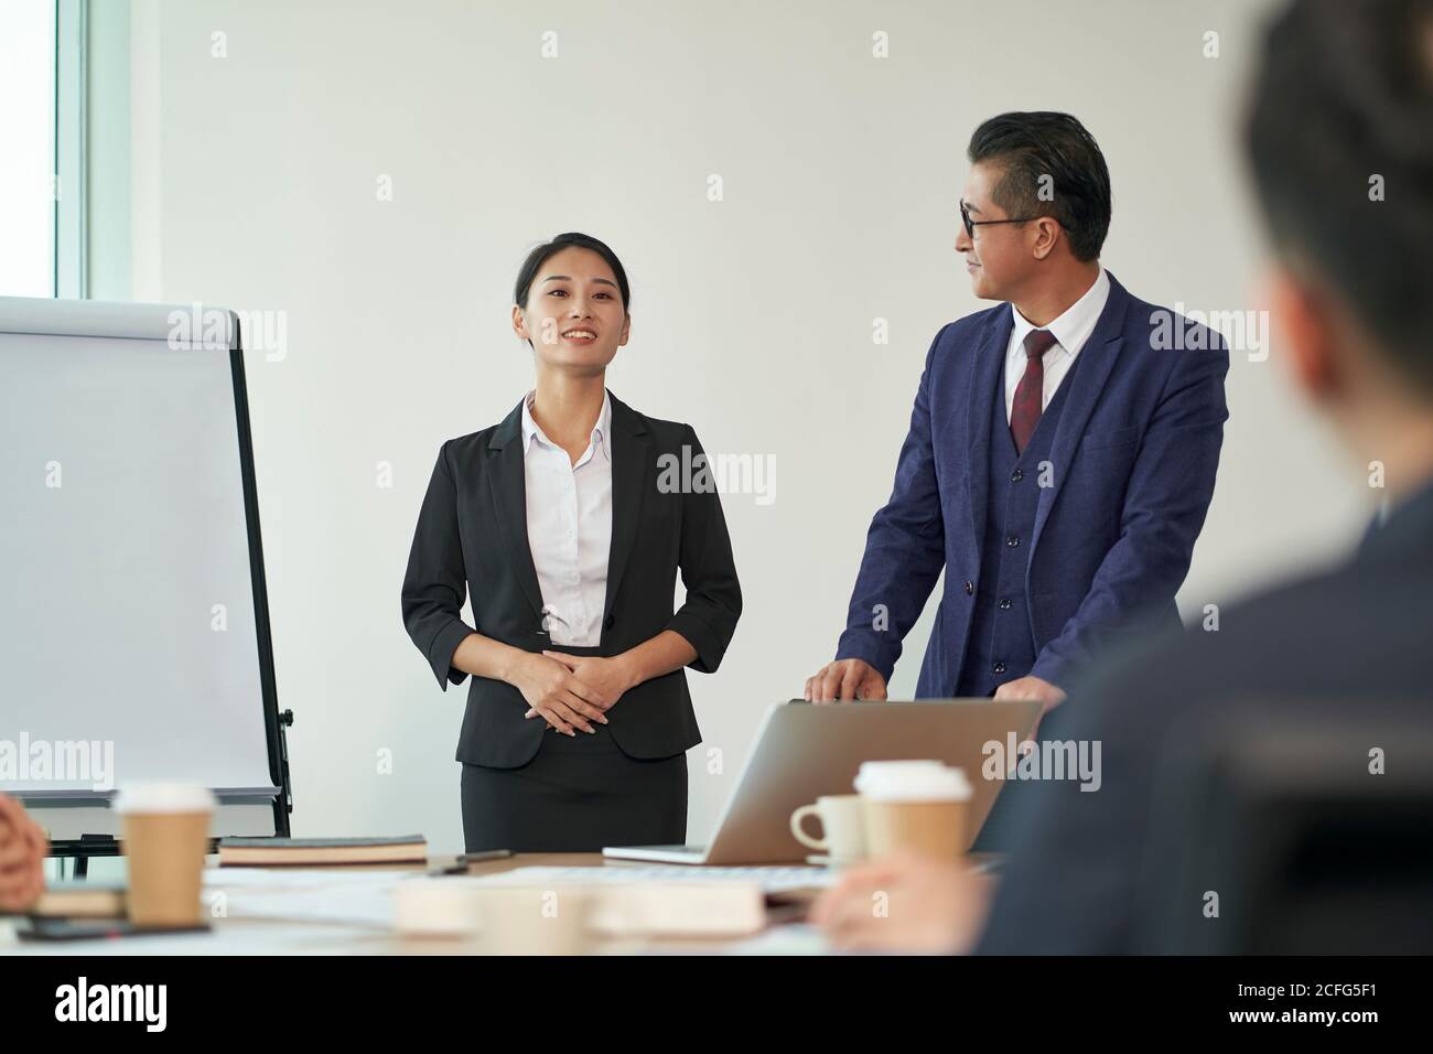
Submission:
M 967 845 L 970 782 L 940 761 L 866 761 L 856 776 L 866 813 L 866 850 L 953 860 Z

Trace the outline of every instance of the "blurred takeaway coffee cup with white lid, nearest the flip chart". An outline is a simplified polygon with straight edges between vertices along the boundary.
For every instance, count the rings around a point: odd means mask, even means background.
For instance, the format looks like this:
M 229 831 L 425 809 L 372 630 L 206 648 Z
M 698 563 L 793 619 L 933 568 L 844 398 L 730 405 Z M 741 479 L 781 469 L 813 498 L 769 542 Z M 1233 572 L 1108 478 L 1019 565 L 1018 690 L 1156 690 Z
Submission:
M 120 787 L 115 812 L 129 863 L 129 921 L 156 929 L 199 925 L 214 794 L 189 783 L 132 783 Z

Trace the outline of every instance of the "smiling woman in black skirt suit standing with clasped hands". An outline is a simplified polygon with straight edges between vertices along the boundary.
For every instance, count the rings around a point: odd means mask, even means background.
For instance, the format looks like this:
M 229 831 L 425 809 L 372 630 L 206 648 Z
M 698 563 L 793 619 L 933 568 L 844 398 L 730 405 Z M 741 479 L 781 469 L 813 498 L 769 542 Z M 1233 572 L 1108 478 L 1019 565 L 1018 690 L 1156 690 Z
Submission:
M 596 238 L 535 248 L 513 331 L 536 387 L 443 445 L 418 513 L 403 621 L 444 691 L 473 678 L 457 746 L 469 852 L 686 837 L 701 733 L 684 667 L 716 670 L 741 587 L 696 433 L 606 390 L 629 305 Z

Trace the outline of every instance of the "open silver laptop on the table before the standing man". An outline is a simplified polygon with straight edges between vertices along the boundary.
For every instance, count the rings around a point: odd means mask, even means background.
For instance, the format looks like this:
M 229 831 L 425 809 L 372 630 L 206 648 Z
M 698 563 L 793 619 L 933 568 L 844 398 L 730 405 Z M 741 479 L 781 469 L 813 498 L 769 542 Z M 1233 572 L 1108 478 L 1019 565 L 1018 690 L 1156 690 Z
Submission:
M 606 846 L 615 860 L 655 863 L 805 863 L 811 852 L 791 835 L 791 813 L 823 794 L 854 793 L 861 761 L 936 759 L 970 780 L 969 849 L 1005 780 L 982 777 L 987 743 L 1009 753 L 1023 741 L 1040 704 L 992 698 L 774 703 L 757 730 L 757 746 L 737 779 L 705 846 Z M 1017 759 L 1007 757 L 1009 767 Z

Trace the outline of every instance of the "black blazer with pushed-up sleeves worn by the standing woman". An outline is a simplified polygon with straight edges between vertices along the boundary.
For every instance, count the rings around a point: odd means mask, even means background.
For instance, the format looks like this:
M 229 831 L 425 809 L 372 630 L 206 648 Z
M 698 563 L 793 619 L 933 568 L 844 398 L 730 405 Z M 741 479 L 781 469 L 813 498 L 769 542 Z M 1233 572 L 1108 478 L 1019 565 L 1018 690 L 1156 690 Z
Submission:
M 610 432 L 612 552 L 596 648 L 553 645 L 542 627 L 542 591 L 527 545 L 522 403 L 500 424 L 450 439 L 438 450 L 403 579 L 403 624 L 444 691 L 467 677 L 451 658 L 474 630 L 524 651 L 596 655 L 616 655 L 675 630 L 696 650 L 694 670 L 712 673 L 721 664 L 741 615 L 721 499 L 715 489 L 658 489 L 662 455 L 675 456 L 678 467 L 702 455 L 696 433 L 646 417 L 616 396 Z M 674 614 L 678 568 L 686 602 Z M 477 622 L 471 628 L 460 617 L 469 592 Z M 493 769 L 530 761 L 547 723 L 524 718 L 526 710 L 513 685 L 474 677 L 457 760 Z M 671 757 L 702 741 L 685 670 L 632 688 L 608 711 L 608 721 L 613 741 L 631 757 Z

